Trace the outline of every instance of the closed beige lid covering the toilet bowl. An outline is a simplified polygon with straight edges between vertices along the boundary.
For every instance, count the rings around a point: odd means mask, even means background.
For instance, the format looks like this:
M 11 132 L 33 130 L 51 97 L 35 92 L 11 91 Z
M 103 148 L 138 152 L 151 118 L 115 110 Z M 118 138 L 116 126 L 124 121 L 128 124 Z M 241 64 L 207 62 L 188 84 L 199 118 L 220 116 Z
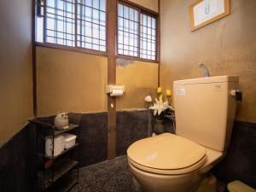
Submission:
M 193 166 L 206 155 L 206 148 L 171 133 L 149 137 L 131 144 L 128 157 L 141 166 L 174 170 Z

